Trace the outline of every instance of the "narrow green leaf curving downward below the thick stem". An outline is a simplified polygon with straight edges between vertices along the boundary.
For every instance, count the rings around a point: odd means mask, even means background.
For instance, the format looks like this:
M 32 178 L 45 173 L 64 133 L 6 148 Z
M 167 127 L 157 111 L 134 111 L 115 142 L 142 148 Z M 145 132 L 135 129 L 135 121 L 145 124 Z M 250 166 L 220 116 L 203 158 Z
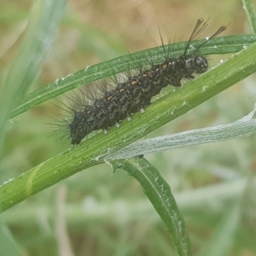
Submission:
M 169 184 L 157 169 L 145 158 L 140 159 L 139 157 L 134 157 L 129 161 L 114 161 L 111 164 L 114 172 L 116 168 L 120 168 L 140 182 L 145 195 L 166 225 L 177 253 L 180 256 L 191 255 L 191 243 L 184 219 Z

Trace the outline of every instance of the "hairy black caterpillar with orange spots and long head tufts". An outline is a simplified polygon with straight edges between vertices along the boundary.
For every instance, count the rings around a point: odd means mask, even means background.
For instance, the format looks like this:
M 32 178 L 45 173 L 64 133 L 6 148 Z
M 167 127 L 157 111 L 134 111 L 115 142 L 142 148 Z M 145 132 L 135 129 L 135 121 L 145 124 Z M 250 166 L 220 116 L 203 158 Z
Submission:
M 122 78 L 112 78 L 112 83 L 101 81 L 97 90 L 92 93 L 80 90 L 81 95 L 66 96 L 66 115 L 61 116 L 56 124 L 56 133 L 60 133 L 61 138 L 70 137 L 72 146 L 77 145 L 93 131 L 102 130 L 106 133 L 113 125 L 119 127 L 120 121 L 125 118 L 131 120 L 132 114 L 138 111 L 143 113 L 152 98 L 166 86 L 179 88 L 182 86 L 182 79 L 194 79 L 195 75 L 206 72 L 208 61 L 198 52 L 202 45 L 227 29 L 227 26 L 221 26 L 211 37 L 193 49 L 190 42 L 198 38 L 206 26 L 207 21 L 197 20 L 184 53 L 179 58 L 170 56 L 172 52 L 169 42 L 168 51 L 164 51 L 161 63 L 150 61 L 148 68 L 138 67 L 138 70 L 128 72 Z M 160 37 L 164 45 L 161 33 Z M 109 90 L 109 87 L 112 88 Z

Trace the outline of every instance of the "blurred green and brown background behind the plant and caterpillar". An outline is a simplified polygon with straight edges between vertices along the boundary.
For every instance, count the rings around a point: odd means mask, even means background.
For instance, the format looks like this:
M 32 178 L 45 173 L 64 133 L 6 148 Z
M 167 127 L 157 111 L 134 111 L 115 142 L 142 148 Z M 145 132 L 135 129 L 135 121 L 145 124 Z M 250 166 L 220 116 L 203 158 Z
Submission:
M 33 4 L 1 1 L 1 81 L 26 34 Z M 186 40 L 196 20 L 210 16 L 203 37 L 229 22 L 225 35 L 250 33 L 239 0 L 69 0 L 56 42 L 29 92 L 127 51 L 161 45 L 158 26 L 166 42 L 175 35 Z M 212 56 L 210 66 L 227 58 Z M 147 138 L 228 124 L 252 111 L 255 102 L 251 76 Z M 52 128 L 45 125 L 52 122 L 48 116 L 60 111 L 46 102 L 8 122 L 1 183 L 70 147 L 70 141 L 49 138 Z M 177 196 L 195 255 L 207 255 L 204 252 L 212 246 L 223 250 L 212 250 L 211 255 L 256 255 L 255 142 L 250 136 L 145 156 Z M 229 209 L 237 198 L 243 204 L 234 217 Z M 0 223 L 1 256 L 175 255 L 138 182 L 121 170 L 112 176 L 107 164 L 77 173 L 16 205 L 1 214 Z

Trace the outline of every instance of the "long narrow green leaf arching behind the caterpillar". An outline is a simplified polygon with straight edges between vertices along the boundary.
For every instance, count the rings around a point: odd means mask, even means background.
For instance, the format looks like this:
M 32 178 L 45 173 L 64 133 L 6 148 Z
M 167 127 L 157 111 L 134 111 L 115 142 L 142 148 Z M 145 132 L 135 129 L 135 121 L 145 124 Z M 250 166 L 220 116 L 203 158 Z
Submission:
M 214 38 L 207 42 L 206 45 L 202 47 L 202 54 L 226 54 L 230 52 L 238 52 L 243 49 L 245 45 L 252 44 L 256 42 L 255 35 L 239 35 L 239 36 L 224 36 L 220 38 Z M 199 40 L 196 45 L 202 43 Z M 170 49 L 172 49 L 173 57 L 180 56 L 183 54 L 186 47 L 186 42 L 180 42 L 179 44 L 173 44 Z M 165 46 L 166 51 L 168 51 L 168 45 Z M 8 114 L 8 118 L 13 118 L 14 116 L 20 115 L 28 109 L 34 108 L 38 104 L 52 99 L 58 95 L 65 92 L 73 90 L 84 84 L 91 83 L 95 80 L 102 79 L 104 77 L 111 76 L 125 70 L 130 70 L 131 68 L 136 68 L 138 63 L 148 64 L 148 56 L 154 58 L 154 60 L 161 60 L 163 56 L 163 47 L 155 47 L 152 49 L 146 49 L 140 52 L 134 52 L 125 56 L 115 58 L 110 61 L 102 62 L 91 67 L 79 70 L 74 74 L 70 74 L 62 79 L 57 79 L 53 83 L 47 84 L 29 95 L 24 96 L 17 102 L 15 108 Z

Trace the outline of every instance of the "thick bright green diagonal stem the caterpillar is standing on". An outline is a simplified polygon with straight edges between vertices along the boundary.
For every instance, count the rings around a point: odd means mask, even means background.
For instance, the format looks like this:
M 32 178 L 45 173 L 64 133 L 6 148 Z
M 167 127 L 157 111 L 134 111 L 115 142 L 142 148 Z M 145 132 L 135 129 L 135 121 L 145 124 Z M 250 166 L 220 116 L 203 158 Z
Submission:
M 45 161 L 23 175 L 0 186 L 1 211 L 18 204 L 74 173 L 104 163 L 104 158 L 158 127 L 195 108 L 256 71 L 256 44 L 234 55 L 221 65 L 190 81 L 179 90 L 168 93 L 136 113 L 132 122 L 124 120 L 119 129 L 111 127 L 108 135 L 93 136 L 80 145 Z

